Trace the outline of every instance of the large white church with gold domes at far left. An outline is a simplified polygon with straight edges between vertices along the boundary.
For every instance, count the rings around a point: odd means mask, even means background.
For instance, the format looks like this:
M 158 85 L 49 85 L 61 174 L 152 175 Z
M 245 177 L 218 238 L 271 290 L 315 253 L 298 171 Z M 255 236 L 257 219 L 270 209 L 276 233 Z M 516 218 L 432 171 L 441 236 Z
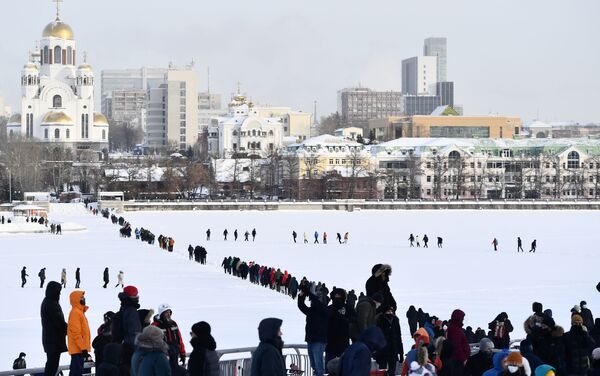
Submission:
M 108 121 L 94 112 L 94 71 L 77 65 L 73 30 L 56 20 L 42 32 L 39 50 L 21 72 L 21 113 L 8 124 L 9 139 L 20 135 L 61 145 L 81 154 L 108 149 Z

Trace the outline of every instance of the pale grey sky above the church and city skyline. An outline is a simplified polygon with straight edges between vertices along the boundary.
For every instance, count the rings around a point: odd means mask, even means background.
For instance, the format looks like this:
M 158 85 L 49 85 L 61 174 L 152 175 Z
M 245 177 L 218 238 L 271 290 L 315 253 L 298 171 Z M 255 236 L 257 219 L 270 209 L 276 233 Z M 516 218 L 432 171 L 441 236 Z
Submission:
M 0 93 L 18 110 L 19 72 L 54 3 L 2 3 Z M 257 103 L 312 112 L 317 100 L 324 115 L 343 87 L 400 90 L 402 59 L 445 36 L 466 114 L 600 122 L 598 0 L 64 0 L 61 13 L 98 78 L 194 59 L 200 88 L 210 66 L 224 103 L 240 81 Z

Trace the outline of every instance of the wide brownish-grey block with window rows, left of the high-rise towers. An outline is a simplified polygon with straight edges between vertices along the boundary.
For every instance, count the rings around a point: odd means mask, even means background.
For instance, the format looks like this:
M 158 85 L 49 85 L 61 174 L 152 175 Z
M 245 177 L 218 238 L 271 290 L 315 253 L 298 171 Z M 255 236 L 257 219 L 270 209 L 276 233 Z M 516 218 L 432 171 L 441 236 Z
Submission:
M 400 115 L 402 93 L 355 87 L 338 91 L 338 112 L 345 127 L 368 131 L 370 119 Z

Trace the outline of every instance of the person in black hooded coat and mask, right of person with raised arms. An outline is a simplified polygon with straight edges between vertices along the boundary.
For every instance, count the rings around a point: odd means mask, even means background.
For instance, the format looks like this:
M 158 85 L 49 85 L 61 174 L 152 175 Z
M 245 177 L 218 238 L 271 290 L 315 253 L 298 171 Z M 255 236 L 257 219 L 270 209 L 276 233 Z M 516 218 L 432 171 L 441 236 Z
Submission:
M 325 346 L 325 364 L 341 356 L 350 346 L 350 318 L 352 308 L 346 302 L 346 291 L 334 288 L 331 292 L 329 324 L 327 326 L 327 346 Z

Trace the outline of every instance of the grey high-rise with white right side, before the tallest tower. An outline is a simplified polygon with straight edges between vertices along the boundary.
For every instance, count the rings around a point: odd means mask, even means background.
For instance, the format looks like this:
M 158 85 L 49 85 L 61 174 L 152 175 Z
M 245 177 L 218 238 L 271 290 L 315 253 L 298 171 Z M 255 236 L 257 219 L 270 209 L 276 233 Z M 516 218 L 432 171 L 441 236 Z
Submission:
M 402 60 L 402 93 L 436 95 L 437 57 L 414 56 Z

